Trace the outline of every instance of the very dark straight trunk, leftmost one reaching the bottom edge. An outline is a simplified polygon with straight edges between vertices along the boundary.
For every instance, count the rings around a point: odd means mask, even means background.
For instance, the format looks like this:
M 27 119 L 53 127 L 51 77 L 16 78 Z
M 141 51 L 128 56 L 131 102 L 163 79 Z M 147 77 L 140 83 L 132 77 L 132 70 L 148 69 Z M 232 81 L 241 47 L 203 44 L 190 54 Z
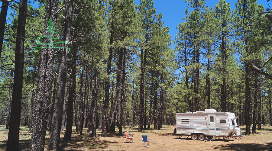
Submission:
M 10 127 L 8 130 L 7 151 L 19 150 L 26 14 L 27 14 L 27 0 L 20 0 L 15 46 L 14 82 L 12 90 Z

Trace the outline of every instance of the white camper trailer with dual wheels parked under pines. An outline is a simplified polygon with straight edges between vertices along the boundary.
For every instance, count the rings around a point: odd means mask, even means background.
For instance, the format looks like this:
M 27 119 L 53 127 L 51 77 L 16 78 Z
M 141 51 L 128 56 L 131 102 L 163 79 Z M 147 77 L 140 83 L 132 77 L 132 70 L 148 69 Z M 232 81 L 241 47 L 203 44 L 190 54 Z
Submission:
M 204 111 L 176 113 L 176 134 L 191 136 L 192 140 L 205 140 L 208 138 L 241 135 L 241 130 L 237 127 L 234 113 L 217 112 L 214 109 Z

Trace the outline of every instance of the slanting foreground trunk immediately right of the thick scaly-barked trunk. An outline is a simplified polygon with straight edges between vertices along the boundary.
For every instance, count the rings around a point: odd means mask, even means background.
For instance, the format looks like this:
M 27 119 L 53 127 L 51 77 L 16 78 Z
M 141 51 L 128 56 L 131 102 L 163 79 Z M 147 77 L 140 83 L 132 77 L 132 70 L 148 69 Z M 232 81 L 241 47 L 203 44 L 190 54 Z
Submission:
M 63 43 L 63 49 L 60 53 L 60 65 L 57 79 L 57 90 L 56 90 L 56 99 L 54 103 L 54 113 L 52 119 L 52 125 L 50 130 L 50 139 L 48 143 L 48 150 L 59 150 L 60 149 L 60 130 L 63 117 L 63 102 L 66 92 L 66 79 L 68 71 L 68 55 L 69 52 L 69 41 L 70 41 L 70 31 L 72 23 L 72 12 L 73 12 L 73 0 L 70 0 L 66 4 L 66 11 L 64 16 L 64 30 L 63 30 L 63 40 L 66 41 Z

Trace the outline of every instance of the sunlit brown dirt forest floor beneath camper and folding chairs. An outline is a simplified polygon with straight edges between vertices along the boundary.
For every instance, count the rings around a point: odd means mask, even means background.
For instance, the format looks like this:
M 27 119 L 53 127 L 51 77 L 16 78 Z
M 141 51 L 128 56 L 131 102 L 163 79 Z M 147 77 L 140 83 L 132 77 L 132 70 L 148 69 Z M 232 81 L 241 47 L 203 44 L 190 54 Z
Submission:
M 272 146 L 272 127 L 262 126 L 262 130 L 257 130 L 257 133 L 245 135 L 242 137 L 242 141 L 234 138 L 215 139 L 214 141 L 200 141 L 191 140 L 191 137 L 186 138 L 182 136 L 179 138 L 173 134 L 175 126 L 163 126 L 161 130 L 144 129 L 143 133 L 137 132 L 137 127 L 123 129 L 124 136 L 118 136 L 118 130 L 116 134 L 108 133 L 107 137 L 100 137 L 101 130 L 96 131 L 95 138 L 89 137 L 90 133 L 83 133 L 79 136 L 73 129 L 72 140 L 60 142 L 60 149 L 62 151 L 88 151 L 88 150 L 112 150 L 112 151 L 157 151 L 157 150 L 190 150 L 190 151 L 222 151 L 222 150 L 235 150 L 235 151 L 266 151 L 271 150 Z M 241 127 L 242 135 L 245 133 L 245 127 Z M 86 129 L 84 129 L 86 132 Z M 125 131 L 129 131 L 129 134 L 134 135 L 134 143 L 125 142 Z M 63 138 L 64 131 L 61 133 Z M 148 135 L 149 138 L 153 138 L 150 142 L 151 147 L 141 147 L 141 135 Z M 8 139 L 8 130 L 5 130 L 5 126 L 0 126 L 0 150 L 6 149 L 6 143 Z M 19 144 L 20 150 L 29 150 L 31 140 L 31 133 L 27 127 L 20 127 Z M 47 150 L 47 144 L 49 140 L 49 133 L 46 134 L 45 150 Z

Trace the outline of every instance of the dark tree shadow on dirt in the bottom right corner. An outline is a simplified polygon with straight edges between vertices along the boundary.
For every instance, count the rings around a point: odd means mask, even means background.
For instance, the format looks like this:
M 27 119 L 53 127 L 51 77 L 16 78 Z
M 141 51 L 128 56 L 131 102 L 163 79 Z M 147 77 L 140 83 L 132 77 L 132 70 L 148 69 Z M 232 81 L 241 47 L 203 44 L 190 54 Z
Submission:
M 272 142 L 269 143 L 262 143 L 262 144 L 225 144 L 225 145 L 218 145 L 213 146 L 213 148 L 216 149 L 222 149 L 222 150 L 233 150 L 233 151 L 248 151 L 248 150 L 254 150 L 254 151 L 268 151 L 271 150 Z

